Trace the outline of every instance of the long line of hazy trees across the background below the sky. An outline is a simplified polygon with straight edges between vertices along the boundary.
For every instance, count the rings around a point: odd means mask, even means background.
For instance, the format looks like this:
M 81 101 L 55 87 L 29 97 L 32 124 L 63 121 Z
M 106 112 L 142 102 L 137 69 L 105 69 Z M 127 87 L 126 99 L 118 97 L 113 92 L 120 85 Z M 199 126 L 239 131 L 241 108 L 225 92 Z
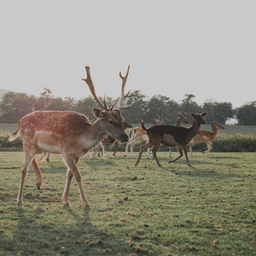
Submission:
M 101 97 L 99 98 L 103 101 Z M 166 124 L 176 124 L 179 112 L 183 113 L 187 119 L 190 119 L 190 113 L 208 112 L 207 123 L 214 120 L 224 125 L 227 120 L 236 118 L 238 125 L 256 125 L 256 102 L 249 102 L 241 108 L 234 109 L 230 102 L 207 101 L 199 106 L 194 98 L 194 95 L 186 94 L 180 103 L 160 95 L 148 99 L 140 90 L 135 90 L 123 103 L 124 106 L 132 104 L 132 107 L 123 110 L 122 115 L 131 124 L 139 124 L 142 119 L 152 124 L 158 117 L 164 119 Z M 117 101 L 118 99 L 111 97 L 106 98 L 108 105 Z M 72 110 L 84 113 L 93 120 L 95 117 L 91 112 L 92 108 L 98 108 L 92 96 L 75 101 L 70 97 L 65 99 L 55 97 L 47 88 L 44 88 L 39 97 L 10 91 L 3 95 L 3 100 L 0 102 L 0 123 L 18 123 L 20 118 L 35 110 Z

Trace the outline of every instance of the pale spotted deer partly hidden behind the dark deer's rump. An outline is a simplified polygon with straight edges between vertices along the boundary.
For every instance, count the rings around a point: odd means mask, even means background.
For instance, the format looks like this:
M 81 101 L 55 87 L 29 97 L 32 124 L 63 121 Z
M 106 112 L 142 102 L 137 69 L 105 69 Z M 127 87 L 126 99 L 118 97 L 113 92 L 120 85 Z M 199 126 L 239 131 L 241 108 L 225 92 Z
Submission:
M 156 123 L 156 125 L 165 124 L 164 119 L 160 118 L 160 116 L 158 116 L 158 119 L 154 119 L 154 122 Z M 128 143 L 126 143 L 126 146 L 125 146 L 125 157 L 128 154 L 129 146 L 131 148 L 131 156 L 135 157 L 135 155 L 133 154 L 133 147 L 137 143 L 145 143 L 145 142 L 148 142 L 147 131 L 144 131 L 142 127 L 136 127 L 136 128 L 131 129 L 130 139 L 129 139 Z M 148 148 L 148 159 L 149 159 L 149 154 L 150 154 L 150 148 Z

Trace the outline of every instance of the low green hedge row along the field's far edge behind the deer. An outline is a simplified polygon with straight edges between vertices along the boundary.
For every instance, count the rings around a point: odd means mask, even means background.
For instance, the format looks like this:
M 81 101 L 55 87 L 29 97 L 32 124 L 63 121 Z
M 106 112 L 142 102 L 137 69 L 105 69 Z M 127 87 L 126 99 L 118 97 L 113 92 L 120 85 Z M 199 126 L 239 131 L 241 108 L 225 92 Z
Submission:
M 134 151 L 138 151 L 142 144 L 137 144 L 134 147 Z M 256 136 L 244 135 L 244 134 L 232 134 L 226 135 L 222 134 L 219 136 L 212 144 L 213 151 L 215 152 L 256 152 Z M 0 136 L 0 150 L 11 150 L 11 149 L 22 149 L 21 138 L 18 137 L 15 141 L 9 142 L 9 135 Z M 106 147 L 109 150 L 111 147 Z M 111 149 L 113 150 L 113 148 Z M 125 151 L 125 144 L 119 145 L 119 151 Z M 168 151 L 168 147 L 160 147 L 158 151 Z M 173 147 L 173 151 L 175 151 Z M 188 148 L 189 150 L 189 148 Z M 194 151 L 204 151 L 207 150 L 206 143 L 198 143 L 193 148 Z M 130 148 L 129 148 L 130 151 Z

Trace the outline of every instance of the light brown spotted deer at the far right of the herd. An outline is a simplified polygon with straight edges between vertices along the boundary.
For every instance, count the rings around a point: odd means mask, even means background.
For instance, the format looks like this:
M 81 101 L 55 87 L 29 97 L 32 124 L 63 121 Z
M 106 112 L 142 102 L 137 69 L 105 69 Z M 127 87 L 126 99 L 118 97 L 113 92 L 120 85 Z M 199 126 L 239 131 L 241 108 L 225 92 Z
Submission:
M 189 151 L 190 151 L 190 155 L 192 154 L 192 148 L 195 146 L 196 143 L 207 143 L 207 150 L 203 151 L 202 153 L 207 153 L 209 155 L 210 151 L 212 149 L 212 143 L 215 141 L 215 139 L 218 137 L 218 132 L 219 130 L 224 130 L 224 126 L 219 125 L 218 122 L 213 121 L 212 125 L 214 125 L 214 131 L 204 131 L 204 130 L 199 130 L 197 132 L 197 134 L 195 135 L 195 137 L 193 137 L 189 143 Z

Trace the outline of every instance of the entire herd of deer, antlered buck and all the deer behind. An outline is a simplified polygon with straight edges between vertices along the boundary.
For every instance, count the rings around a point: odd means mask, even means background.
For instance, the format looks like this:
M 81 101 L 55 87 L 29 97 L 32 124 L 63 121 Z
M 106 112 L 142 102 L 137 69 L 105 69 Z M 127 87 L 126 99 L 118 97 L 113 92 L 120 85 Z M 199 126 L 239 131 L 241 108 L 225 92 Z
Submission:
M 156 155 L 160 145 L 170 147 L 171 158 L 171 147 L 177 147 L 179 155 L 174 160 L 170 160 L 169 163 L 175 162 L 185 154 L 187 164 L 191 166 L 186 147 L 189 145 L 190 154 L 192 155 L 192 148 L 199 142 L 207 143 L 208 149 L 204 153 L 208 152 L 210 154 L 212 143 L 218 137 L 218 131 L 224 130 L 224 127 L 217 122 L 213 122 L 214 131 L 200 130 L 200 126 L 206 124 L 203 119 L 207 114 L 206 112 L 201 114 L 191 113 L 193 125 L 189 128 L 182 126 L 182 124 L 188 124 L 182 113 L 178 113 L 177 125 L 166 125 L 164 120 L 159 117 L 159 119 L 155 119 L 156 125 L 146 128 L 142 120 L 142 127 L 132 128 L 130 137 L 127 136 L 125 130 L 131 128 L 131 125 L 125 122 L 121 115 L 121 110 L 131 108 L 131 105 L 125 107 L 121 107 L 121 105 L 130 93 L 129 90 L 125 94 L 125 84 L 129 69 L 130 66 L 128 66 L 125 76 L 122 76 L 121 72 L 119 73 L 119 77 L 122 80 L 119 101 L 115 106 L 114 104 L 107 106 L 105 96 L 103 103 L 96 96 L 96 90 L 90 76 L 90 67 L 85 67 L 87 78 L 82 80 L 88 85 L 91 95 L 102 108 L 92 108 L 92 113 L 96 117 L 94 122 L 90 122 L 84 114 L 73 111 L 34 111 L 20 119 L 19 128 L 9 137 L 9 141 L 14 141 L 20 136 L 23 143 L 24 160 L 20 175 L 20 189 L 17 196 L 19 204 L 23 201 L 24 182 L 30 165 L 32 165 L 36 176 L 36 185 L 40 189 L 43 179 L 38 163 L 42 162 L 47 154 L 47 160 L 49 160 L 49 154 L 51 153 L 61 154 L 67 166 L 66 185 L 62 194 L 63 206 L 69 207 L 68 193 L 72 178 L 75 177 L 84 208 L 90 208 L 90 204 L 84 194 L 78 162 L 84 154 L 89 153 L 91 148 L 100 148 L 99 150 L 102 151 L 102 158 L 104 159 L 104 146 L 107 143 L 114 145 L 114 154 L 119 143 L 126 143 L 125 156 L 128 154 L 128 147 L 130 146 L 131 155 L 134 157 L 134 145 L 145 143 L 139 151 L 136 166 L 139 164 L 145 149 L 148 149 L 148 158 L 151 149 L 154 160 L 156 160 L 158 166 L 161 166 Z M 35 155 L 42 153 L 43 157 L 37 162 Z

